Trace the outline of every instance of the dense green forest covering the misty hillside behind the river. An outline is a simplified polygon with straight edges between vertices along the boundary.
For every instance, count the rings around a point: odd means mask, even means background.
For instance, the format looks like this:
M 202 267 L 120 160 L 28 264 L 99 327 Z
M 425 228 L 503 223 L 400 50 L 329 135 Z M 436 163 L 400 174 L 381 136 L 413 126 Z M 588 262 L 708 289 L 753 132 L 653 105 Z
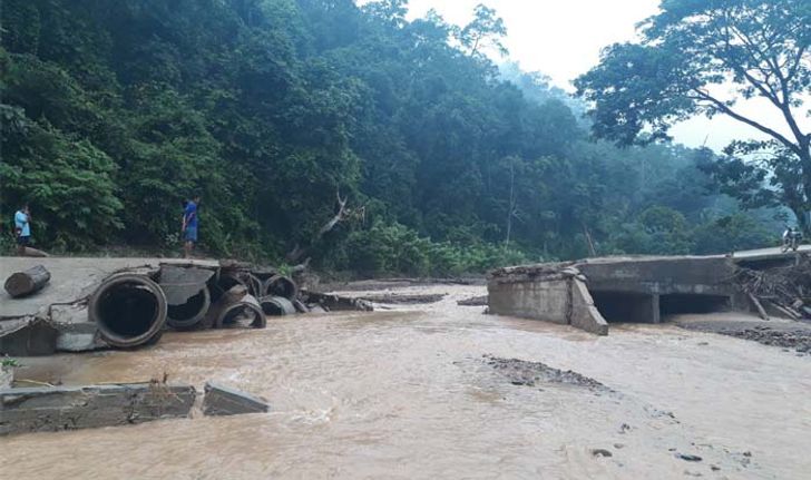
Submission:
M 584 104 L 497 66 L 495 11 L 462 28 L 404 14 L 3 0 L 4 232 L 28 202 L 45 248 L 177 251 L 199 193 L 206 252 L 362 274 L 775 242 L 773 212 L 709 176 L 711 150 L 595 140 Z

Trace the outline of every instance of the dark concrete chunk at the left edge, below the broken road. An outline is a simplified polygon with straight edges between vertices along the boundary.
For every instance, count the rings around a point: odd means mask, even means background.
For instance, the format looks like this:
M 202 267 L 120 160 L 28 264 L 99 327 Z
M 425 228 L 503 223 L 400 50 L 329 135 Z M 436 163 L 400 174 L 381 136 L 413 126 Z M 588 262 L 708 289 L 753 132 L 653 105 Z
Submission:
M 58 332 L 45 319 L 23 316 L 0 321 L 0 354 L 11 356 L 51 355 Z

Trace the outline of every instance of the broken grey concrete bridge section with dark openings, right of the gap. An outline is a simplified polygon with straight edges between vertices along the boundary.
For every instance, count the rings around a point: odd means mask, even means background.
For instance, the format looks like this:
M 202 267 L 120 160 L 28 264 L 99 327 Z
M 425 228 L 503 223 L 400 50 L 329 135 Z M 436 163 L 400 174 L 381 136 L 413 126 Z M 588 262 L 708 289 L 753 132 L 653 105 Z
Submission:
M 803 252 L 807 252 L 803 248 Z M 605 335 L 610 322 L 659 323 L 663 315 L 750 311 L 733 281 L 739 266 L 779 266 L 779 249 L 710 256 L 635 256 L 515 266 L 488 278 L 489 311 L 570 324 Z

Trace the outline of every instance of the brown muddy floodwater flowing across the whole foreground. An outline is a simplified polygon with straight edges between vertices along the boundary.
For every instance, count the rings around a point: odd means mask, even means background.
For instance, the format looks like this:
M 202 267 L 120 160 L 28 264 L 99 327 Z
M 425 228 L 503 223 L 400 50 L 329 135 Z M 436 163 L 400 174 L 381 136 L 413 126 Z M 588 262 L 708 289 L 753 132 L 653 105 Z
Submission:
M 0 440 L 8 479 L 808 479 L 811 357 L 671 325 L 565 326 L 439 303 L 168 333 L 23 361 L 65 384 L 168 374 L 272 411 Z

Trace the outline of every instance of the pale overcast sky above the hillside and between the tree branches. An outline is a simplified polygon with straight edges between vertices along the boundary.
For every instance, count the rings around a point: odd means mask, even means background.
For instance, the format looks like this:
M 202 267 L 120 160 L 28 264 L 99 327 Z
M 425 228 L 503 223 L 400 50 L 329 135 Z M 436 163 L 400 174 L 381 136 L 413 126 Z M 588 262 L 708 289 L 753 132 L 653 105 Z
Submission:
M 571 80 L 597 63 L 603 47 L 635 39 L 636 23 L 656 13 L 659 0 L 410 0 L 409 16 L 422 17 L 433 8 L 448 22 L 466 25 L 478 3 L 496 9 L 504 19 L 511 60 L 524 70 L 546 74 L 555 85 L 571 91 Z M 764 101 L 740 108 L 785 130 L 776 109 Z M 676 141 L 716 150 L 732 139 L 762 138 L 726 117 L 695 118 L 676 126 L 672 134 Z

